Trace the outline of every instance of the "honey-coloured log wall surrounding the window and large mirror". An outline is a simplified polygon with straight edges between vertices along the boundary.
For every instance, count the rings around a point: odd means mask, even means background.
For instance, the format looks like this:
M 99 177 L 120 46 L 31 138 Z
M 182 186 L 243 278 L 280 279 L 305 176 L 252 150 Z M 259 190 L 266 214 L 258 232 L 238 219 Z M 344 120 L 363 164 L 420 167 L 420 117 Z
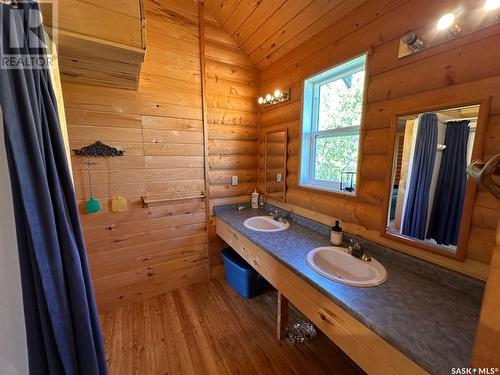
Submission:
M 492 105 L 484 145 L 484 157 L 500 152 L 500 26 L 473 33 L 442 46 L 399 60 L 399 38 L 408 30 L 428 24 L 456 0 L 375 0 L 325 29 L 261 74 L 261 94 L 276 88 L 291 88 L 291 101 L 261 115 L 260 138 L 270 129 L 288 128 L 287 203 L 354 224 L 352 230 L 379 242 L 385 171 L 388 163 L 391 114 L 436 103 L 477 100 L 491 96 Z M 362 134 L 361 186 L 359 197 L 351 199 L 320 193 L 298 186 L 301 90 L 304 78 L 369 52 L 367 108 Z M 262 158 L 262 153 L 261 153 Z M 486 192 L 477 194 L 463 264 L 446 261 L 456 269 L 485 277 L 494 247 L 499 213 L 498 202 Z M 393 241 L 388 245 L 400 247 Z M 408 252 L 430 256 L 407 247 Z

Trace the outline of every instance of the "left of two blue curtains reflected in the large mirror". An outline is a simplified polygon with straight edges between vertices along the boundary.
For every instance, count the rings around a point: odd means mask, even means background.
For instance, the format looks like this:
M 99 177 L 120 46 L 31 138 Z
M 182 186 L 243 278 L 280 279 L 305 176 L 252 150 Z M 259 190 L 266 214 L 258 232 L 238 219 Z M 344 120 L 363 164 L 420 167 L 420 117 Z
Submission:
M 425 239 L 429 191 L 436 160 L 438 119 L 435 113 L 425 113 L 418 121 L 417 139 L 403 213 L 401 233 L 416 239 Z

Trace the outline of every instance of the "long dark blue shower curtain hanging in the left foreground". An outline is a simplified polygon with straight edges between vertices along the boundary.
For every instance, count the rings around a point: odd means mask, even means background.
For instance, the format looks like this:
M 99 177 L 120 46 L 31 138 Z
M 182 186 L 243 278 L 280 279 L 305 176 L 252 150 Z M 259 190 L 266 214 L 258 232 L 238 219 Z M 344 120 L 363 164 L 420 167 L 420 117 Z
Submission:
M 43 31 L 33 26 L 37 23 L 32 17 L 39 17 L 38 4 L 18 4 L 15 16 L 9 5 L 0 5 L 2 62 L 8 55 L 43 57 L 45 53 L 32 44 Z M 106 374 L 48 70 L 2 66 L 0 105 L 14 196 L 30 373 Z

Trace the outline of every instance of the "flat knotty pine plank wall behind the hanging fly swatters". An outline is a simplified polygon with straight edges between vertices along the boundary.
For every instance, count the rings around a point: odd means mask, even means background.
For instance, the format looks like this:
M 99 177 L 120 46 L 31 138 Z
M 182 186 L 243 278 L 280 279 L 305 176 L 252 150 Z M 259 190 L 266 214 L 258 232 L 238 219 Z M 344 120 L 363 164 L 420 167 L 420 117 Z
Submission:
M 84 212 L 90 190 L 83 160 L 73 157 L 101 310 L 208 278 L 206 202 L 143 208 L 141 201 L 142 195 L 205 190 L 198 18 L 168 1 L 145 6 L 148 50 L 137 92 L 63 85 L 71 147 L 99 139 L 125 150 L 125 156 L 98 159 L 91 167 L 102 206 L 93 215 Z M 127 212 L 110 212 L 118 194 L 127 199 Z

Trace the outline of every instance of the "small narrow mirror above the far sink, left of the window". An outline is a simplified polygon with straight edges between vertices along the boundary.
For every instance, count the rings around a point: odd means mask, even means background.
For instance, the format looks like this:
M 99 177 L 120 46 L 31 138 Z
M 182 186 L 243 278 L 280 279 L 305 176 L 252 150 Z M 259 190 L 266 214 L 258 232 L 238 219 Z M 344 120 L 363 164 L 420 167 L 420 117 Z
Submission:
M 285 201 L 286 192 L 286 130 L 266 134 L 266 196 Z

